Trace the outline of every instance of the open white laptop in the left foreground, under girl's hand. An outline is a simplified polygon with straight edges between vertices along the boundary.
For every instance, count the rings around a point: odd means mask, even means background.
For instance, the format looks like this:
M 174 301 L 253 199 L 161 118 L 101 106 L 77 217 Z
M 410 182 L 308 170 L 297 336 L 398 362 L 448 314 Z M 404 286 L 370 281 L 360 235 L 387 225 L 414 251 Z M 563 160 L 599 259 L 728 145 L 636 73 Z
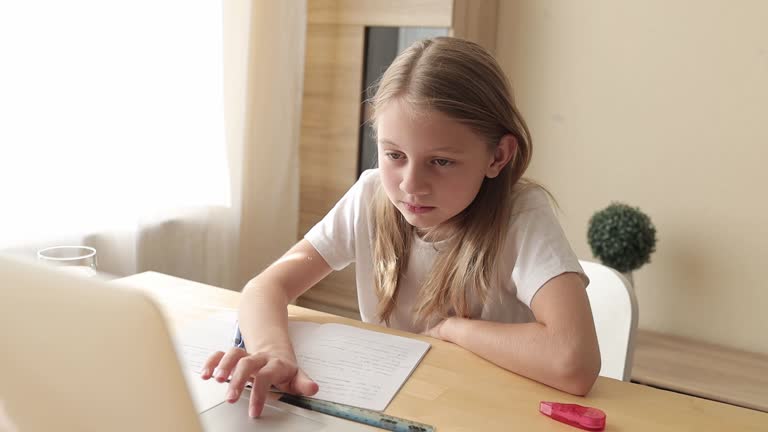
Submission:
M 182 372 L 139 290 L 0 255 L 0 432 L 378 430 L 276 395 L 252 419 L 225 392 Z

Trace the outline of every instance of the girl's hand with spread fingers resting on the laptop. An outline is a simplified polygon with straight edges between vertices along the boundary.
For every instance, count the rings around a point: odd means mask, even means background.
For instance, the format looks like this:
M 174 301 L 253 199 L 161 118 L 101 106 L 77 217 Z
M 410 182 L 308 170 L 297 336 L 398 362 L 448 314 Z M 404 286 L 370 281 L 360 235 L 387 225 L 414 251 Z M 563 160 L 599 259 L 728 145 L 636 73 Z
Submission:
M 204 380 L 213 377 L 221 383 L 230 376 L 232 379 L 227 392 L 229 403 L 240 398 L 248 382 L 253 383 L 248 406 L 248 415 L 251 417 L 261 415 L 267 392 L 273 385 L 281 391 L 303 396 L 312 396 L 319 388 L 298 368 L 295 361 L 268 352 L 249 354 L 241 348 L 232 348 L 226 354 L 217 351 L 205 362 L 201 373 Z

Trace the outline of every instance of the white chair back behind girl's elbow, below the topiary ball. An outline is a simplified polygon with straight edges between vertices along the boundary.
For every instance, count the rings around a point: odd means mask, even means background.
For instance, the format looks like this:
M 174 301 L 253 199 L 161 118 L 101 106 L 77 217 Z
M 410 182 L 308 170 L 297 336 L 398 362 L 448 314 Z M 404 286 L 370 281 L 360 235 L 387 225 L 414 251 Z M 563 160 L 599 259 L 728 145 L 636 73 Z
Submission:
M 637 331 L 637 299 L 627 279 L 603 264 L 579 260 L 600 344 L 600 376 L 629 381 Z

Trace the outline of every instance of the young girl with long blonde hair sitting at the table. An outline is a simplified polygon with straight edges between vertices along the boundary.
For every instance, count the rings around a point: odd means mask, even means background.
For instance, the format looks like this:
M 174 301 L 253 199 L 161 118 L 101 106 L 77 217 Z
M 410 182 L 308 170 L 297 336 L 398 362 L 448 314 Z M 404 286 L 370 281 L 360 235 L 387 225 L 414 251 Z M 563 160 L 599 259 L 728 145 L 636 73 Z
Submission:
M 243 290 L 248 352 L 202 372 L 236 401 L 253 382 L 258 417 L 271 385 L 311 396 L 296 365 L 288 303 L 356 264 L 363 321 L 458 344 L 512 372 L 583 395 L 600 370 L 587 278 L 547 193 L 522 179 L 531 139 L 504 73 L 480 46 L 417 42 L 372 100 L 378 169 Z

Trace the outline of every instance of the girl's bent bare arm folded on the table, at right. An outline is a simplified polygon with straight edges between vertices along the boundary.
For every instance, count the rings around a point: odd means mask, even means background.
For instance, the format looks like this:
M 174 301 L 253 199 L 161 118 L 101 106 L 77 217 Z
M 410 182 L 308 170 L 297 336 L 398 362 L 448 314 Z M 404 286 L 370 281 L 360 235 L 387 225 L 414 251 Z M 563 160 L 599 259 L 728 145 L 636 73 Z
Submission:
M 531 309 L 536 322 L 448 318 L 429 333 L 519 375 L 585 395 L 600 372 L 600 350 L 584 282 L 576 273 L 550 279 Z

